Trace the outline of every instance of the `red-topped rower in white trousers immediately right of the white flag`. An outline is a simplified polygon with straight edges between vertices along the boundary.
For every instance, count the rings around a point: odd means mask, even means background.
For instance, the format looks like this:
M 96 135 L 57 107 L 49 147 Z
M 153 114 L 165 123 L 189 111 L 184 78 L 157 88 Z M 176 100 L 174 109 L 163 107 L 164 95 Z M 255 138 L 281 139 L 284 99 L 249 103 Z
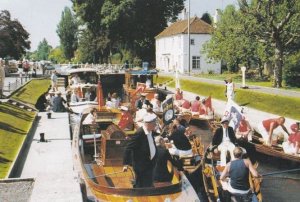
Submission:
M 252 141 L 252 135 L 253 135 L 253 130 L 249 122 L 246 120 L 246 117 L 243 116 L 242 120 L 239 123 L 239 127 L 236 129 L 235 136 L 237 139 L 241 141 L 250 142 Z

